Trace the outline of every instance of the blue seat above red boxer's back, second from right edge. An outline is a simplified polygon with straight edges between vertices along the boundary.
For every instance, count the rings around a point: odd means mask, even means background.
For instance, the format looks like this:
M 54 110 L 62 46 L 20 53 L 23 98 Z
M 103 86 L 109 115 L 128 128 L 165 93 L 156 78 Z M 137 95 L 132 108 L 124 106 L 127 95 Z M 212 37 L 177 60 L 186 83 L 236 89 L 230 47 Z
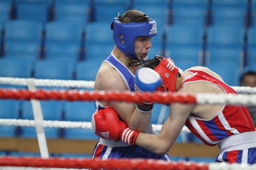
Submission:
M 240 54 L 244 44 L 243 27 L 234 27 L 232 25 L 212 25 L 207 32 L 207 65 L 214 63 L 230 62 L 233 67 L 238 68 Z M 232 60 L 233 59 L 233 60 Z M 213 63 L 211 63 L 213 62 Z

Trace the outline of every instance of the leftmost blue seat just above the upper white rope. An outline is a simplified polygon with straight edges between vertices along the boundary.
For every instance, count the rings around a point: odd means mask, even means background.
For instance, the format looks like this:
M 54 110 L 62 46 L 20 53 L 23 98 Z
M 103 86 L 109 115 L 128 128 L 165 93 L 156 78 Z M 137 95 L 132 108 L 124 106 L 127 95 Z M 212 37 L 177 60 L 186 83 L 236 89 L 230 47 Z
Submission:
M 30 78 L 33 62 L 27 59 L 0 59 L 0 77 Z M 26 88 L 26 86 L 0 84 L 1 88 Z

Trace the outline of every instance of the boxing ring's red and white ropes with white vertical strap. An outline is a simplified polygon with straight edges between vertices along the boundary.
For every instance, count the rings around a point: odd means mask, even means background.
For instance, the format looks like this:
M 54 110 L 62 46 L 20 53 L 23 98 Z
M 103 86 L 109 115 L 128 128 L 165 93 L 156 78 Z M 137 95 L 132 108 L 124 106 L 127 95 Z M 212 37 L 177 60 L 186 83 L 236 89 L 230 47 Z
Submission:
M 90 122 L 70 121 L 45 121 L 43 120 L 40 100 L 66 100 L 92 101 L 115 100 L 119 102 L 156 102 L 159 104 L 180 102 L 183 104 L 228 104 L 256 106 L 256 88 L 232 87 L 239 95 L 198 94 L 177 95 L 175 93 L 135 93 L 130 91 L 86 91 L 77 89 L 47 90 L 39 89 L 39 86 L 61 88 L 86 88 L 93 89 L 93 81 L 63 81 L 47 79 L 20 79 L 12 77 L 0 77 L 0 84 L 12 84 L 28 86 L 27 89 L 0 89 L 2 100 L 31 100 L 35 120 L 4 120 L 0 119 L 1 126 L 35 127 L 38 137 L 41 158 L 35 157 L 0 157 L 0 169 L 256 169 L 256 164 L 227 164 L 221 163 L 196 163 L 196 162 L 166 162 L 152 159 L 113 159 L 100 160 L 90 158 L 50 158 L 44 134 L 45 127 L 53 128 L 85 128 L 92 129 Z M 161 130 L 161 125 L 153 125 L 154 131 Z M 188 132 L 188 128 L 182 129 Z M 171 149 L 172 150 L 172 149 Z

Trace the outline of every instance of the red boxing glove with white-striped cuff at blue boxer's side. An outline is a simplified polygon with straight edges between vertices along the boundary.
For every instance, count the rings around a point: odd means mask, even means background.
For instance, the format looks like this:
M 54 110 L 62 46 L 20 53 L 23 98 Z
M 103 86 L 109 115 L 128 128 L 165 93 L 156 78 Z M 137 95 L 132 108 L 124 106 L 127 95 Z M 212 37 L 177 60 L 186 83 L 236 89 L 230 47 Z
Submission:
M 134 145 L 140 132 L 128 128 L 124 121 L 119 120 L 113 107 L 107 107 L 95 112 L 92 116 L 92 128 L 94 133 L 111 141 L 123 141 Z

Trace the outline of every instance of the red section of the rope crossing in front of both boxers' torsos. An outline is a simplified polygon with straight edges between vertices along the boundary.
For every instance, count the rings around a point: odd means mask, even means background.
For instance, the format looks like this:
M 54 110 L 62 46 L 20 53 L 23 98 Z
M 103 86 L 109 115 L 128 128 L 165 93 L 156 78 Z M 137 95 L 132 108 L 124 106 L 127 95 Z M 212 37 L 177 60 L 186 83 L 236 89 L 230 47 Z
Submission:
M 15 100 L 67 100 L 67 101 L 126 101 L 126 102 L 157 102 L 159 104 L 171 104 L 180 102 L 184 104 L 196 104 L 196 97 L 192 95 L 177 95 L 175 93 L 135 93 L 131 91 L 56 91 L 56 90 L 37 90 L 29 91 L 26 89 L 0 89 L 0 98 Z

